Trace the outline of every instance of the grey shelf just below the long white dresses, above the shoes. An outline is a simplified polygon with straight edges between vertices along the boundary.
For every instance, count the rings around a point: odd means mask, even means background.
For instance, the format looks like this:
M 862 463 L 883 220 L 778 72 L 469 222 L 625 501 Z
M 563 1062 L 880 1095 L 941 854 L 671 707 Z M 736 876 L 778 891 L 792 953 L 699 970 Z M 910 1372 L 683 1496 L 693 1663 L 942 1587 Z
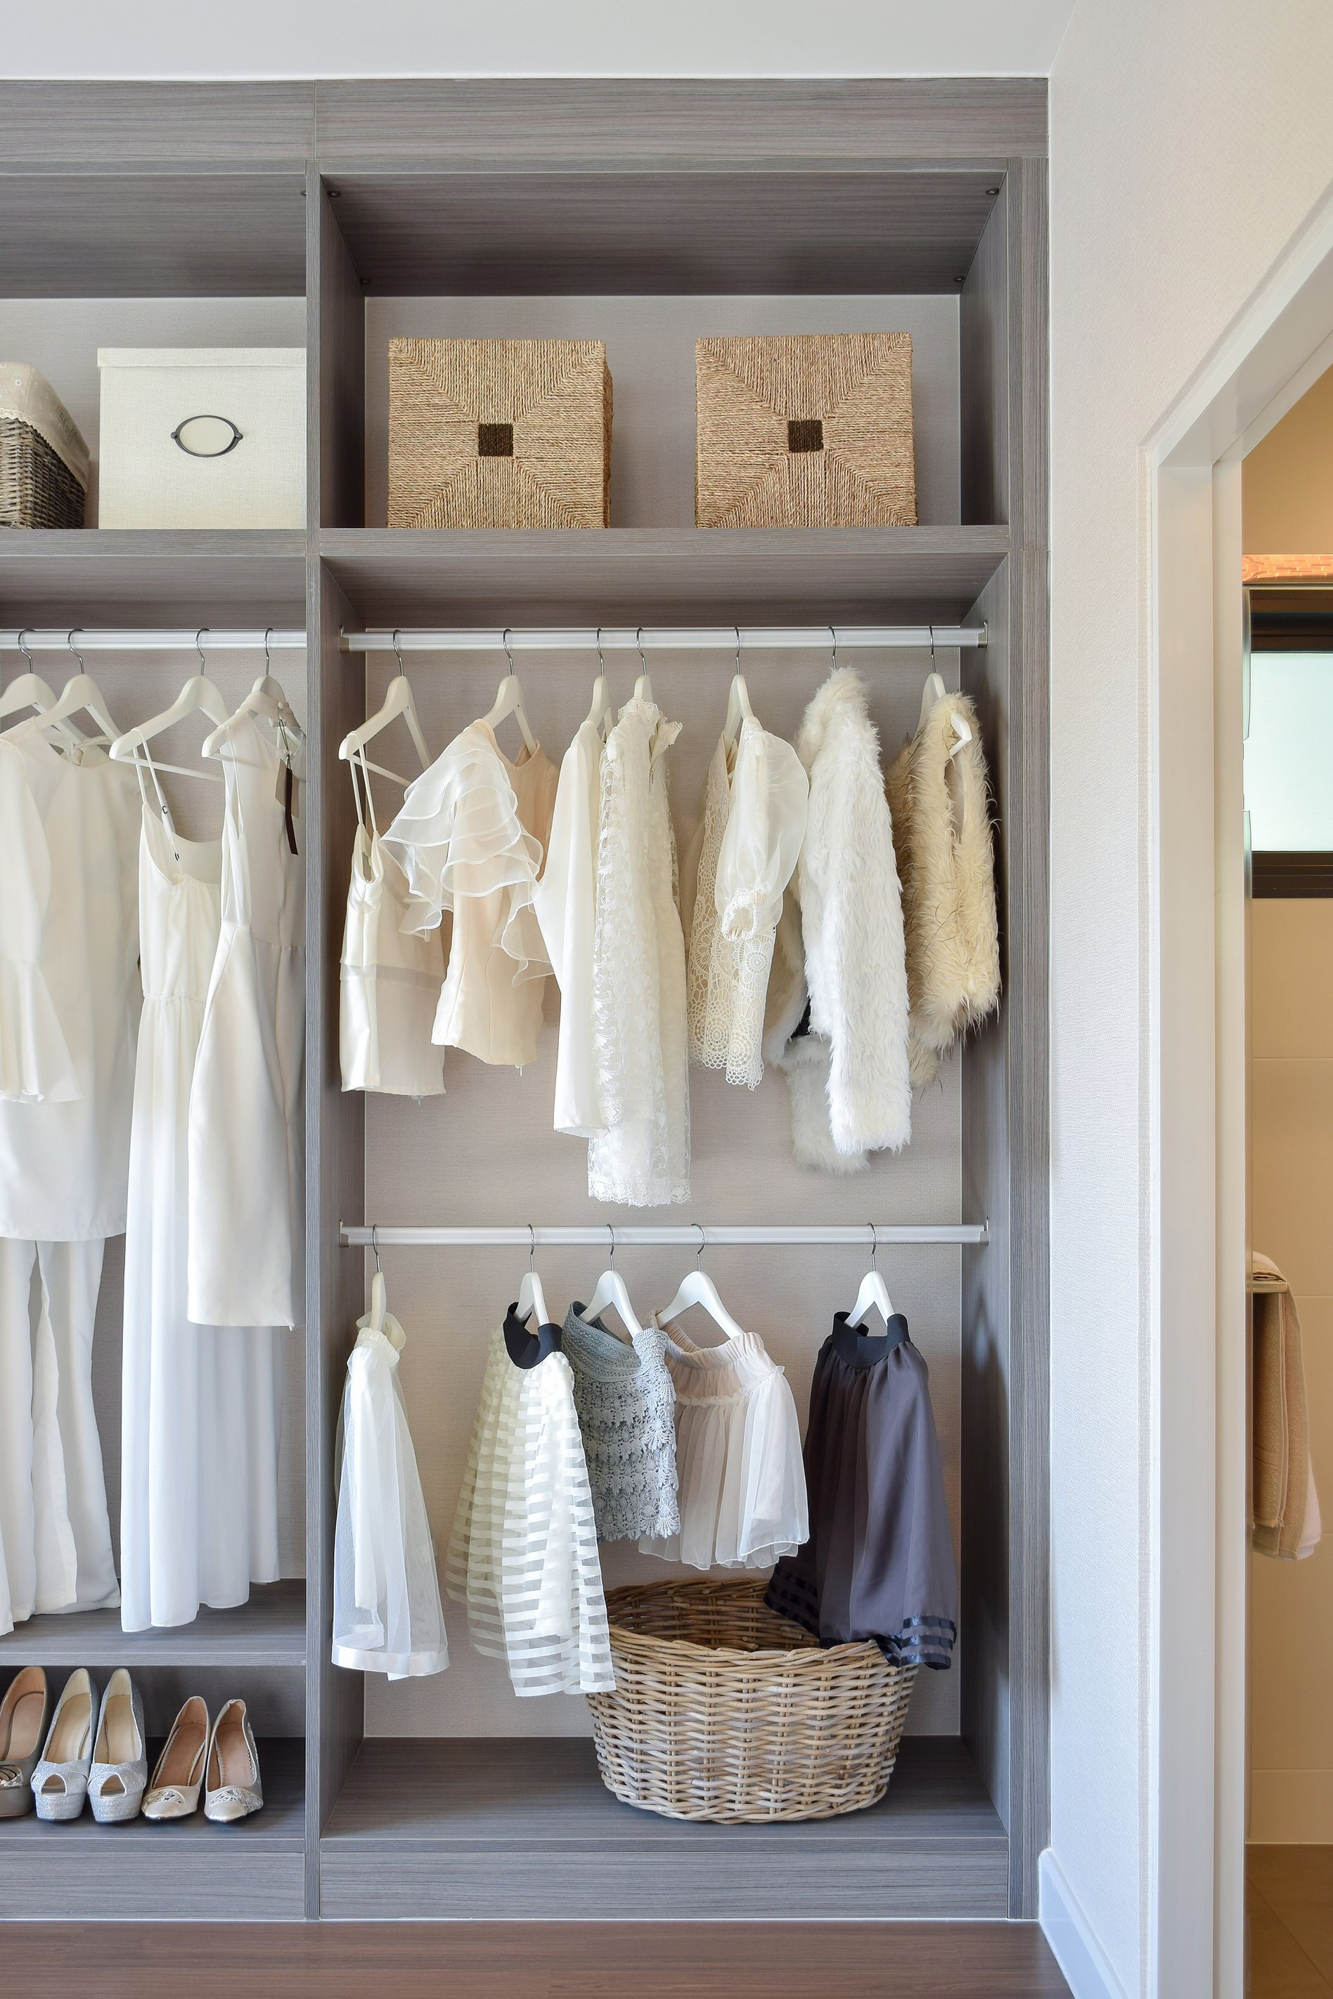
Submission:
M 120 1611 L 28 1617 L 0 1637 L 0 1673 L 20 1665 L 304 1665 L 306 1583 L 266 1583 L 234 1611 L 194 1623 L 122 1631 Z M 0 1821 L 2 1823 L 2 1821 Z

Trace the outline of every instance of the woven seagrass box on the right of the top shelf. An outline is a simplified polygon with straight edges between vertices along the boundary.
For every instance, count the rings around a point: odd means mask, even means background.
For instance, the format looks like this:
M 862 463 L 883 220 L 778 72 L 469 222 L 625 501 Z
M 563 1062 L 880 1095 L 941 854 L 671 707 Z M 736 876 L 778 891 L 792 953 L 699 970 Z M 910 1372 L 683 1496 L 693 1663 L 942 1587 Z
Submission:
M 697 528 L 915 528 L 911 334 L 697 340 Z

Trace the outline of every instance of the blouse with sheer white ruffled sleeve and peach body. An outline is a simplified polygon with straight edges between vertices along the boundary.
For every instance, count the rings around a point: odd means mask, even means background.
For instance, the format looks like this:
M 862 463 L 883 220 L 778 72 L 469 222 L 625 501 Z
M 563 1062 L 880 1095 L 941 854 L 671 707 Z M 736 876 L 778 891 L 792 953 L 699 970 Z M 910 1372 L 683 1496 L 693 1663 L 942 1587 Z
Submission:
M 556 766 L 538 746 L 518 764 L 472 722 L 408 786 L 384 844 L 408 876 L 410 932 L 452 912 L 450 962 L 432 1039 L 490 1063 L 536 1061 L 550 960 L 536 886 L 552 826 Z

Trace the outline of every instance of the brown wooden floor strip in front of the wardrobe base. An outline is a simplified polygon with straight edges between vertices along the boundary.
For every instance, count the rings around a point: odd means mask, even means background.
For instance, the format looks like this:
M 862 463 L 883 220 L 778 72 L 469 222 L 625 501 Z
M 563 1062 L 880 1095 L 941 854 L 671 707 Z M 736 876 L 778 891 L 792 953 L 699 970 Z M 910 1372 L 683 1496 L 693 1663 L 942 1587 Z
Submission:
M 28 1923 L 6 1999 L 1051 1999 L 1033 1923 Z

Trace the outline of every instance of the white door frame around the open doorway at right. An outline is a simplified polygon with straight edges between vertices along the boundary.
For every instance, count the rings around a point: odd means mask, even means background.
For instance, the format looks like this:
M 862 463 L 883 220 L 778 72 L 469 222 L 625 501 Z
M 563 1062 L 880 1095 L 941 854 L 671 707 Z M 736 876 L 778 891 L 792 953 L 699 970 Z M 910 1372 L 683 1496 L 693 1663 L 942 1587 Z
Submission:
M 1151 1991 L 1245 1965 L 1241 460 L 1333 364 L 1333 194 L 1141 448 Z

